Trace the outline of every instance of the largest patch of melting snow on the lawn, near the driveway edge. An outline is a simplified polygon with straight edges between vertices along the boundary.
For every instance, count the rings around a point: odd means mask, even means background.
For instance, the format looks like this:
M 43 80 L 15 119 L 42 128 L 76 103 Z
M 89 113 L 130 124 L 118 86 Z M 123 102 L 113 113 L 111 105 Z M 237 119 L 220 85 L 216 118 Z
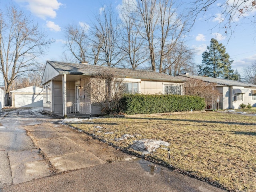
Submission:
M 131 145 L 131 148 L 142 152 L 142 154 L 149 154 L 154 152 L 160 146 L 169 146 L 168 142 L 162 140 L 154 140 L 154 139 L 142 139 L 142 140 L 135 140 L 134 144 Z

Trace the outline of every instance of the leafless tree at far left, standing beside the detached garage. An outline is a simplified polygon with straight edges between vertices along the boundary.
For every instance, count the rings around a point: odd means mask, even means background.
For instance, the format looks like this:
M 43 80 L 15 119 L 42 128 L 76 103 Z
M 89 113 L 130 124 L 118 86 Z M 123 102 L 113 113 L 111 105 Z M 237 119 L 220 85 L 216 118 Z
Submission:
M 46 40 L 33 20 L 10 5 L 0 13 L 0 71 L 4 77 L 5 105 L 8 105 L 10 88 L 16 78 L 35 71 L 36 58 L 44 53 L 53 41 Z

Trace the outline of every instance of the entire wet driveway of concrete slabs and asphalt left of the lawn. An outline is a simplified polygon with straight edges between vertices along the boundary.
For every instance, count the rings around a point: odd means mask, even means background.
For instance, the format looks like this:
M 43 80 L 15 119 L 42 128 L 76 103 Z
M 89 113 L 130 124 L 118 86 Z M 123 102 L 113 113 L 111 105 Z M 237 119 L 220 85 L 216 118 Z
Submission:
M 124 154 L 41 110 L 16 109 L 0 117 L 1 192 L 222 191 Z

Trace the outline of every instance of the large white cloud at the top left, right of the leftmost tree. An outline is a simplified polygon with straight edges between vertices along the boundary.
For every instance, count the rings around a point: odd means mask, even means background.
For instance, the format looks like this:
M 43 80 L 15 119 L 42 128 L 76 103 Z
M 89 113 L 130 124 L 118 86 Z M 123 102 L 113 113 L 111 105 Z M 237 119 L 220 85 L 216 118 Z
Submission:
M 62 5 L 58 0 L 16 0 L 21 6 L 26 7 L 30 12 L 39 18 L 55 18 L 56 10 Z

